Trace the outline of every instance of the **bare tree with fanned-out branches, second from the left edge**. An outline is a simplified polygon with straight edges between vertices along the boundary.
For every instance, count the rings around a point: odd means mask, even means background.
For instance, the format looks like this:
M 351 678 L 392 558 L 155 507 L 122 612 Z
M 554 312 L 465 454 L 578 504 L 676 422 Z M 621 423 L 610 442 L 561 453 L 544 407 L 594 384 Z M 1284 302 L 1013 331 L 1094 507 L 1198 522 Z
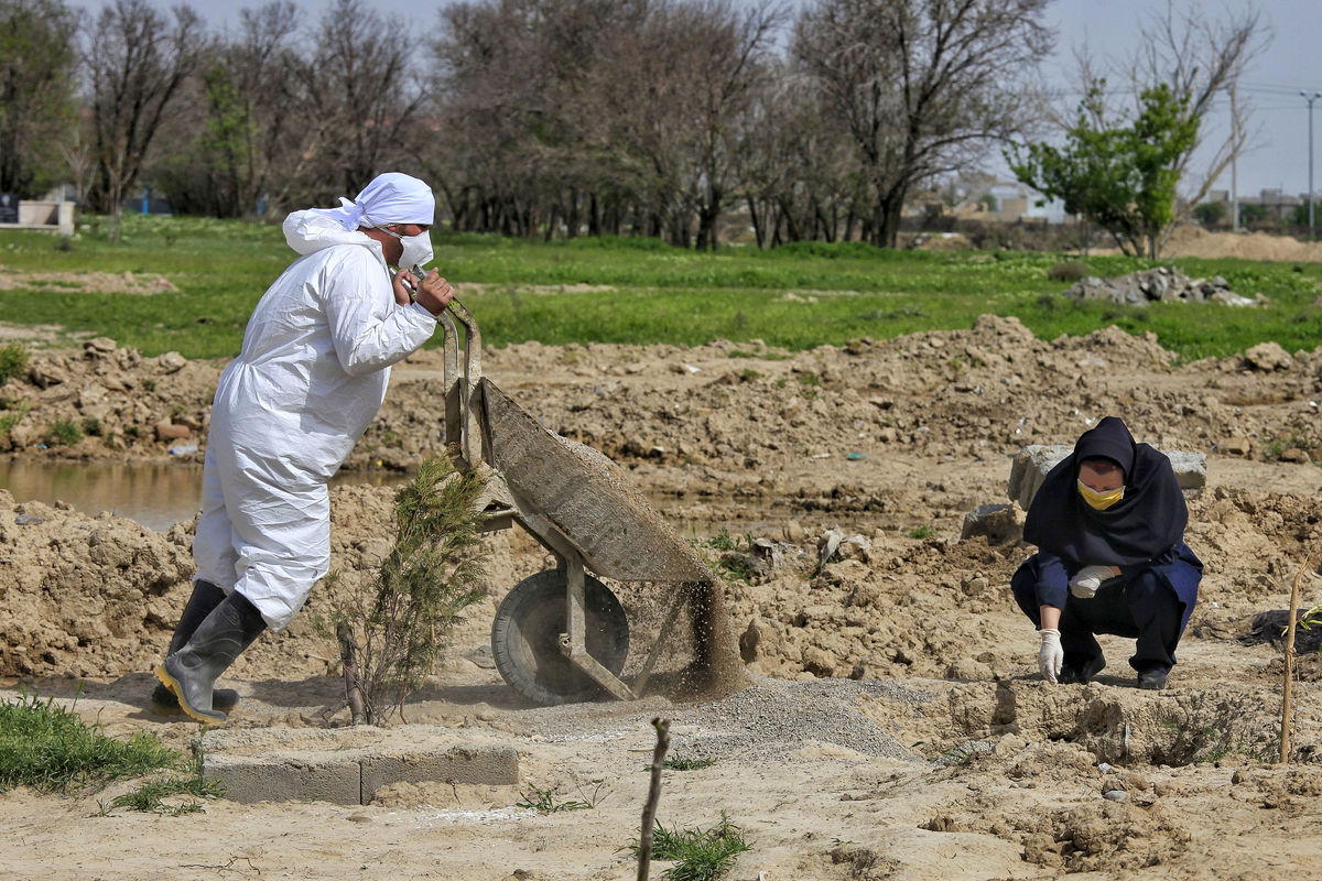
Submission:
M 97 161 L 89 199 L 93 210 L 111 214 L 115 234 L 124 198 L 202 41 L 201 20 L 188 7 L 175 7 L 172 22 L 145 0 L 115 0 L 97 16 L 86 53 Z

